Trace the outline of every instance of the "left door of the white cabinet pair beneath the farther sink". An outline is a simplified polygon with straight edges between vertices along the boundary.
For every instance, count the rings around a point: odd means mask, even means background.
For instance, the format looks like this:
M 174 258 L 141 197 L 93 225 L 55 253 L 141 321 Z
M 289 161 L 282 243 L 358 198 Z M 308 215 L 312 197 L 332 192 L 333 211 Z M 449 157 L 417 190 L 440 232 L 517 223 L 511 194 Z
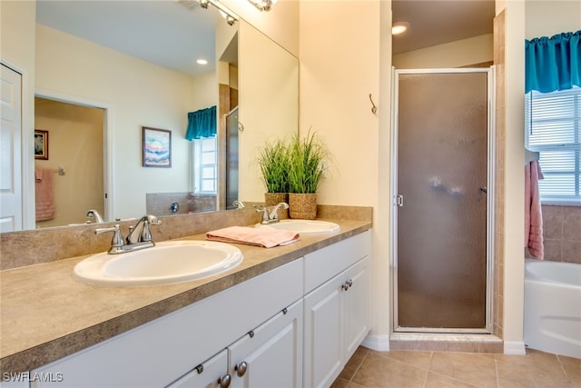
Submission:
M 305 387 L 328 387 L 343 367 L 342 274 L 322 284 L 304 298 Z

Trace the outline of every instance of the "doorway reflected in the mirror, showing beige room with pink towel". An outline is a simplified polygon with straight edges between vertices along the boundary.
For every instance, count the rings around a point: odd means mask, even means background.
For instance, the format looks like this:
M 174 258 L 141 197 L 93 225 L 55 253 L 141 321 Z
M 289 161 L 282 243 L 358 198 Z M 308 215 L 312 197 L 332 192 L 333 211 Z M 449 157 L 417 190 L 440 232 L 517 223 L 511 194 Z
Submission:
M 50 145 L 47 159 L 34 160 L 36 227 L 84 223 L 89 209 L 105 214 L 103 124 L 103 109 L 34 98 L 34 128 Z

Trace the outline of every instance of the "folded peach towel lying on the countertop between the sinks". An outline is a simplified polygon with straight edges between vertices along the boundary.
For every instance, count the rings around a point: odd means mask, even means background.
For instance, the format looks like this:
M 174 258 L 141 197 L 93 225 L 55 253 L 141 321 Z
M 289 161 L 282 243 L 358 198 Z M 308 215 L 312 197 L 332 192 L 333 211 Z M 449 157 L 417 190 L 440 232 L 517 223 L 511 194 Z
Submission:
M 296 232 L 252 226 L 229 226 L 206 234 L 208 240 L 257 245 L 265 248 L 295 243 L 299 241 L 299 238 L 300 234 Z

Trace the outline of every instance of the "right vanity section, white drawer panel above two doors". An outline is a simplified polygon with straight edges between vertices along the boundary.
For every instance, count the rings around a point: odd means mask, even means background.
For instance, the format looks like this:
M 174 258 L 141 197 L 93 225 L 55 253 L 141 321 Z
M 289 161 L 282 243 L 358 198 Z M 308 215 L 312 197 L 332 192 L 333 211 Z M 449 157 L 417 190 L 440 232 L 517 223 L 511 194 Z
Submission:
M 330 386 L 369 332 L 369 238 L 359 234 L 305 256 L 305 387 Z M 310 291 L 321 278 L 330 280 Z

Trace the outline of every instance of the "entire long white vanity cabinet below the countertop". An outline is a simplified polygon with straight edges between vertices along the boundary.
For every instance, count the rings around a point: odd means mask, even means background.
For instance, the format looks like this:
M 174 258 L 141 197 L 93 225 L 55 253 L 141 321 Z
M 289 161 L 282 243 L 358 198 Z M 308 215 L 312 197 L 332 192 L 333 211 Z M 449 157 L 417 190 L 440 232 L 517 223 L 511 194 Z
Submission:
M 369 332 L 370 232 L 31 373 L 45 387 L 325 387 Z M 42 379 L 41 379 L 42 380 Z

